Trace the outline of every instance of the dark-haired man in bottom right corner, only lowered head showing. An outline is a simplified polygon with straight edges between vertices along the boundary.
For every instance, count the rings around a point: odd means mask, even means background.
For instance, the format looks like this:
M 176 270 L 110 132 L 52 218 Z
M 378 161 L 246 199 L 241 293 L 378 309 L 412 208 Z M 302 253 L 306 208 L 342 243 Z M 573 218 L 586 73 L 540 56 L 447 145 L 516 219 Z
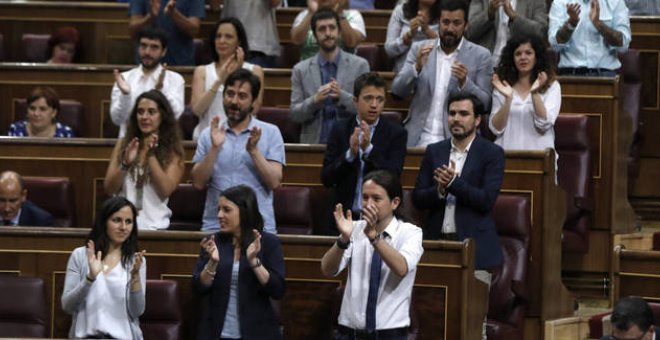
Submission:
M 653 325 L 653 310 L 644 299 L 624 297 L 612 311 L 612 335 L 601 340 L 660 340 L 660 328 Z

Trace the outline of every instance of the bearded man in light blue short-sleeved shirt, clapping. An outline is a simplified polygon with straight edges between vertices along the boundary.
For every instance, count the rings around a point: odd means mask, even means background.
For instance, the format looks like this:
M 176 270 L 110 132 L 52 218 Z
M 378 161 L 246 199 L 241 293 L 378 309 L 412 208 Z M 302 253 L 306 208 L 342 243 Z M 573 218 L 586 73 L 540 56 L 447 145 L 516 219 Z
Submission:
M 214 117 L 197 140 L 191 175 L 197 189 L 206 189 L 203 231 L 217 231 L 218 198 L 244 184 L 257 195 L 264 230 L 276 233 L 273 190 L 282 183 L 284 141 L 277 126 L 250 112 L 259 95 L 259 78 L 246 69 L 231 73 L 222 93 L 227 120 Z

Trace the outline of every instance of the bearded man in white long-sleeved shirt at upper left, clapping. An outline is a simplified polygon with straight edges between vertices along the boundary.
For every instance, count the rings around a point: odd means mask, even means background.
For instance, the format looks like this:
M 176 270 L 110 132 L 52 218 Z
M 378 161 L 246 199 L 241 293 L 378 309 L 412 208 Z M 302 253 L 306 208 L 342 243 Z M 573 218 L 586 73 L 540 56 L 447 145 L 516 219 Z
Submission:
M 135 99 L 143 92 L 156 89 L 169 100 L 178 119 L 183 113 L 183 77 L 167 69 L 160 60 L 167 52 L 167 35 L 160 29 L 145 28 L 138 34 L 140 66 L 126 72 L 114 70 L 115 84 L 112 86 L 110 118 L 119 126 L 119 138 L 126 133 L 126 123 L 131 116 Z

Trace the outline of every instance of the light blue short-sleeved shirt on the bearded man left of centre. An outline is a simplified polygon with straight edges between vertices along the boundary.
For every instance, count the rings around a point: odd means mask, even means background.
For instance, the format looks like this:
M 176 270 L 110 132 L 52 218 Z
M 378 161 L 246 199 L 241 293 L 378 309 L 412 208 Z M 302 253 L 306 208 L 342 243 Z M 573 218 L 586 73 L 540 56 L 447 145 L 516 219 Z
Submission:
M 261 151 L 266 160 L 285 165 L 282 134 L 277 126 L 260 121 L 254 117 L 250 119 L 247 128 L 239 134 L 236 134 L 230 129 L 226 121 L 222 124 L 227 129 L 227 133 L 213 165 L 213 174 L 211 175 L 206 191 L 202 230 L 217 231 L 220 229 L 220 223 L 218 222 L 218 198 L 221 191 L 243 184 L 252 188 L 257 195 L 259 211 L 264 218 L 264 230 L 276 234 L 275 213 L 273 212 L 273 191 L 261 180 L 252 158 L 247 150 L 245 150 L 245 145 L 250 136 L 250 129 L 258 126 L 261 128 L 261 138 L 257 143 L 259 151 Z M 202 161 L 211 149 L 210 131 L 211 128 L 207 127 L 199 136 L 193 163 Z

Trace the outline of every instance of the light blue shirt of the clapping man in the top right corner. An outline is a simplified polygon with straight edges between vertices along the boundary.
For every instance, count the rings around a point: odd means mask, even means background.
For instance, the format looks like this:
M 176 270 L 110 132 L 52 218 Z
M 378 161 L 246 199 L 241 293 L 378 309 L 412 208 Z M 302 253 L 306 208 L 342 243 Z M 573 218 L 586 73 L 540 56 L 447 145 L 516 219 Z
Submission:
M 580 21 L 571 38 L 557 43 L 557 31 L 568 20 L 566 4 L 581 5 Z M 559 67 L 587 67 L 616 70 L 621 67 L 617 52 L 624 52 L 630 44 L 630 18 L 624 0 L 600 0 L 600 21 L 623 35 L 623 45 L 610 46 L 589 19 L 590 2 L 584 0 L 555 0 L 550 8 L 548 39 L 550 45 L 559 51 Z

